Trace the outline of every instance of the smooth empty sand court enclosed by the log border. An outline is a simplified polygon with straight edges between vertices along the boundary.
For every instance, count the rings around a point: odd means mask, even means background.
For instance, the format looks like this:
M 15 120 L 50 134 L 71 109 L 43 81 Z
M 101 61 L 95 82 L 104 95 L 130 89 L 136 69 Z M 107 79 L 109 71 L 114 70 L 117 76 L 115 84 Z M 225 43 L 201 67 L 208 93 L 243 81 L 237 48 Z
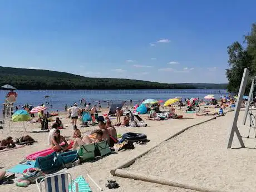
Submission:
M 249 126 L 240 126 L 243 114 L 240 112 L 238 125 L 241 135 L 247 136 Z M 230 112 L 195 126 L 157 146 L 126 170 L 225 191 L 255 191 L 256 139 L 243 139 L 246 147 L 254 149 L 227 149 L 232 117 Z M 234 138 L 233 147 L 239 147 Z

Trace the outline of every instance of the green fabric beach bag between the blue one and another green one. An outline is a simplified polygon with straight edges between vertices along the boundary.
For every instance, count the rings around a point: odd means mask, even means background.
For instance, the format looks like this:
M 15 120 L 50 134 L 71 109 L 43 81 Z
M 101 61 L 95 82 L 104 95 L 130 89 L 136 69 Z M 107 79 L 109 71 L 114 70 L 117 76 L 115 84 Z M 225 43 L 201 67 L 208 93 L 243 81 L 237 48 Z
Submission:
M 93 144 L 81 145 L 77 154 L 83 162 L 94 159 L 95 144 L 93 143 Z

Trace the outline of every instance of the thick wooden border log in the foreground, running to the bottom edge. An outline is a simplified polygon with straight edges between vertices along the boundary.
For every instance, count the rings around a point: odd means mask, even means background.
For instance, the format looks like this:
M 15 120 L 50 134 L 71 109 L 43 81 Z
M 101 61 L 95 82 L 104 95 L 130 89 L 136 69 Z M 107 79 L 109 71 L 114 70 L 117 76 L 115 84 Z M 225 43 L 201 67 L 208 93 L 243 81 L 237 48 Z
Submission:
M 174 186 L 174 187 L 177 187 L 177 188 L 201 191 L 201 192 L 225 192 L 225 191 L 221 191 L 219 189 L 210 189 L 210 188 L 204 188 L 202 186 L 178 183 L 177 181 L 172 181 L 172 180 L 169 180 L 169 179 L 160 178 L 158 176 L 138 174 L 138 173 L 135 173 L 135 172 L 132 172 L 132 171 L 125 171 L 125 170 L 121 170 L 121 169 L 116 170 L 116 176 L 120 176 L 122 178 L 129 178 L 129 179 L 146 181 L 146 182 L 150 182 L 150 183 L 157 183 L 157 184 L 161 184 L 161 185 Z

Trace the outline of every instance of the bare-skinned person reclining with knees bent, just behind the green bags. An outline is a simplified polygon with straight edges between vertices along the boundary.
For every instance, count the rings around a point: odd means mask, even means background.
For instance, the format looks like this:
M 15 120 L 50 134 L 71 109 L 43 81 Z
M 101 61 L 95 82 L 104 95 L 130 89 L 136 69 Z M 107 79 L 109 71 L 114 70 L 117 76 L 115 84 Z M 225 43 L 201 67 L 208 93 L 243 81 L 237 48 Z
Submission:
M 100 142 L 102 141 L 103 132 L 100 129 L 96 129 L 90 135 L 84 136 L 82 139 L 77 137 L 74 141 L 72 150 L 76 150 L 78 146 L 91 144 L 93 142 Z

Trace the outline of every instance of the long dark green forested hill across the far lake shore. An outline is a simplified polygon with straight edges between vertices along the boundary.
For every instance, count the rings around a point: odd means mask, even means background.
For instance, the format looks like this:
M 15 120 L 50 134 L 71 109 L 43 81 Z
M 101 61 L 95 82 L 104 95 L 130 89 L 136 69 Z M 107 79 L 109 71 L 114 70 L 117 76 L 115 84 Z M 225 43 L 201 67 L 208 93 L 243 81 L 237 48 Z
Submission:
M 0 85 L 19 90 L 227 88 L 227 84 L 159 83 L 124 78 L 91 78 L 66 72 L 0 66 Z

